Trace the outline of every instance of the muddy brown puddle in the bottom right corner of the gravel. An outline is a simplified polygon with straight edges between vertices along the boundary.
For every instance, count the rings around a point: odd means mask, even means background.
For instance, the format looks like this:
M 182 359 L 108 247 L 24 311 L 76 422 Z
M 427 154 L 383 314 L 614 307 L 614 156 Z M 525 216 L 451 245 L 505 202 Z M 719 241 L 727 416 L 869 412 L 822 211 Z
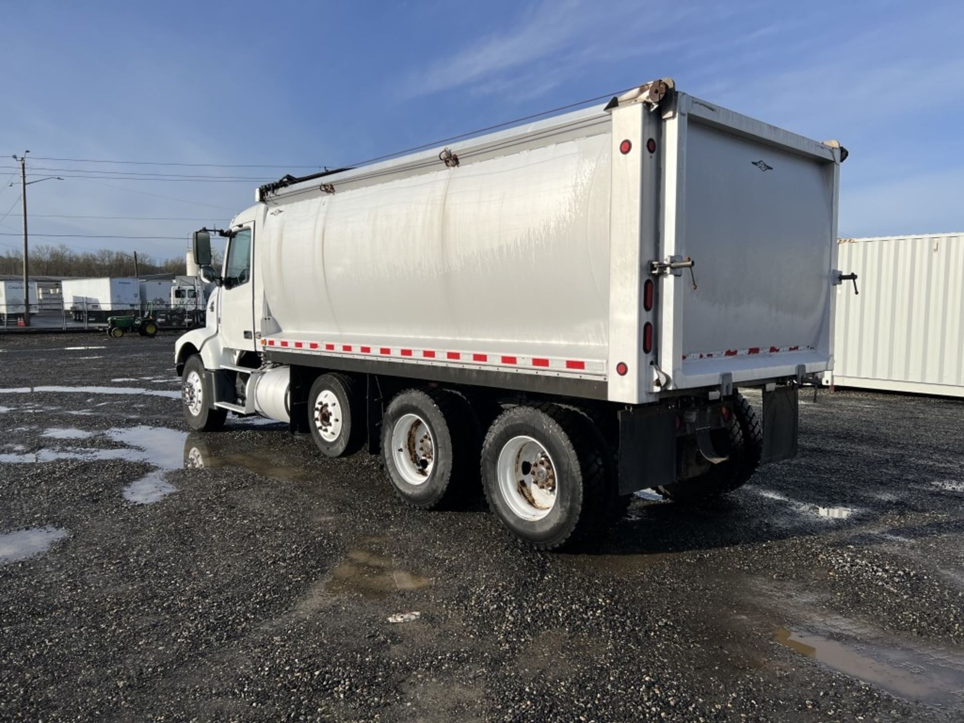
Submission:
M 841 642 L 789 628 L 776 629 L 773 640 L 898 698 L 937 708 L 964 704 L 964 659 L 949 652 Z

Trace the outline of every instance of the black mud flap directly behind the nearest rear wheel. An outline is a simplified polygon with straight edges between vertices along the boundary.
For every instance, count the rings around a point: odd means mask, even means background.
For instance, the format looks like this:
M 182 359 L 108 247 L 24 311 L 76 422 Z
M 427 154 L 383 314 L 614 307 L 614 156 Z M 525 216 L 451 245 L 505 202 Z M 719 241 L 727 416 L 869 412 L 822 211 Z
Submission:
M 619 494 L 676 481 L 676 415 L 654 410 L 619 413 Z

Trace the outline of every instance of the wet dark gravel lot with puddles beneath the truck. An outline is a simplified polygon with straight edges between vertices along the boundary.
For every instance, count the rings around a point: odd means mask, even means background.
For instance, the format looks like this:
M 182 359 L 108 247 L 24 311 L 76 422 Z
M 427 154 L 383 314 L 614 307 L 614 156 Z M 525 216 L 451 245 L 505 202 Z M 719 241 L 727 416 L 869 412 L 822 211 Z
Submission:
M 0 336 L 0 719 L 964 720 L 960 402 L 807 395 L 796 460 L 537 554 L 189 435 L 173 346 Z

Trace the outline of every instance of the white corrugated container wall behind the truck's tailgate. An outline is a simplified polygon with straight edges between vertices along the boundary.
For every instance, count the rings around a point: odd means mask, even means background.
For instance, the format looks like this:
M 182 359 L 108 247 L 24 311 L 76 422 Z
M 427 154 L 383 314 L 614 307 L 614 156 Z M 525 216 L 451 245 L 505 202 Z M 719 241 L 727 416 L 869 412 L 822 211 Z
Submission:
M 964 233 L 842 239 L 831 384 L 964 397 Z

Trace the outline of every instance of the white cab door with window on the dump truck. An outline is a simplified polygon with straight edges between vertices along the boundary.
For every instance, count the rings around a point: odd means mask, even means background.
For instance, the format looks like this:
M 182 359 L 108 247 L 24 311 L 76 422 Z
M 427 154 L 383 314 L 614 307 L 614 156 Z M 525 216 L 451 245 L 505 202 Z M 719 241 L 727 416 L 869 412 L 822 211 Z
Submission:
M 219 294 L 221 336 L 227 347 L 254 351 L 254 223 L 231 231 Z

